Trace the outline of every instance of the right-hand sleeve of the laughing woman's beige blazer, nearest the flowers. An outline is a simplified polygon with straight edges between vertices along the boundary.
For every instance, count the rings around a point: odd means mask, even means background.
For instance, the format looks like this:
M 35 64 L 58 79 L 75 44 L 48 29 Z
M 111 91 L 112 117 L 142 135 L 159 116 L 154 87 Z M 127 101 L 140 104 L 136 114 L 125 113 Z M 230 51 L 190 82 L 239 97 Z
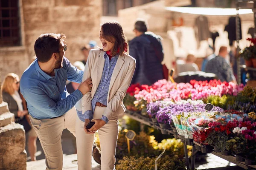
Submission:
M 133 77 L 135 67 L 136 67 L 136 61 L 134 59 L 130 62 L 128 71 L 125 74 L 125 78 L 121 82 L 118 90 L 116 91 L 116 94 L 113 96 L 111 101 L 108 103 L 107 108 L 105 109 L 105 112 L 102 114 L 102 116 L 106 116 L 108 118 L 108 120 L 110 120 L 111 117 L 115 114 L 117 108 L 119 107 L 122 100 L 124 99 L 124 97 L 126 95 L 126 91 L 131 84 L 131 79 Z

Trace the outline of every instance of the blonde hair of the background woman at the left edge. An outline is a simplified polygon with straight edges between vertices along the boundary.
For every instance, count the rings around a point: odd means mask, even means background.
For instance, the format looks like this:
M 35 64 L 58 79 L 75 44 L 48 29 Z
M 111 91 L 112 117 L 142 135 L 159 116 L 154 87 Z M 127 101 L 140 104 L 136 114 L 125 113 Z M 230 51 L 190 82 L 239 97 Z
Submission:
M 17 79 L 17 81 L 20 80 L 17 74 L 14 74 L 14 73 L 7 74 L 3 80 L 3 85 L 1 87 L 2 91 L 5 91 L 10 95 L 14 94 L 14 89 L 12 87 L 12 84 L 15 82 L 15 79 Z

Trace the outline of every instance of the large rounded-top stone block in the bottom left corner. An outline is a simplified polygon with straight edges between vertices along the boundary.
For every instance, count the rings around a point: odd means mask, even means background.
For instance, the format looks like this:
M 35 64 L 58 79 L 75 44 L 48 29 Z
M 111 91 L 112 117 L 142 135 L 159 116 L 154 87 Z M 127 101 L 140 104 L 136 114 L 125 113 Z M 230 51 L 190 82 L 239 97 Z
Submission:
M 0 170 L 26 170 L 25 130 L 20 124 L 0 127 Z

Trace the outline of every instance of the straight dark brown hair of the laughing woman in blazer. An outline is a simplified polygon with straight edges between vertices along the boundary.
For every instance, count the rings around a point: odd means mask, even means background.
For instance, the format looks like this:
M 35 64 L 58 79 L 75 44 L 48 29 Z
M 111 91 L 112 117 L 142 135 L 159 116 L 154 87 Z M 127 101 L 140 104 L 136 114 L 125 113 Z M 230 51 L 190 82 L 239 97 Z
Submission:
M 116 40 L 113 50 L 111 51 L 111 56 L 115 56 L 116 54 L 119 54 L 120 56 L 129 54 L 128 42 L 119 22 L 115 20 L 105 22 L 101 25 L 101 31 L 102 37 L 105 40 L 112 43 L 114 42 L 113 38 Z

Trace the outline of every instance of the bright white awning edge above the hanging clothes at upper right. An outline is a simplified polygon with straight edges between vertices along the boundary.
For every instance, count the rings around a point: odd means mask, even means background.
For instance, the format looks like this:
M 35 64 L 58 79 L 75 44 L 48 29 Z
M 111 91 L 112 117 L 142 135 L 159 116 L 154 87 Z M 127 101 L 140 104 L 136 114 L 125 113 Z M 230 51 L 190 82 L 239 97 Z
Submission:
M 167 11 L 198 15 L 236 15 L 236 8 L 165 7 Z M 252 9 L 239 9 L 239 14 L 252 14 Z

